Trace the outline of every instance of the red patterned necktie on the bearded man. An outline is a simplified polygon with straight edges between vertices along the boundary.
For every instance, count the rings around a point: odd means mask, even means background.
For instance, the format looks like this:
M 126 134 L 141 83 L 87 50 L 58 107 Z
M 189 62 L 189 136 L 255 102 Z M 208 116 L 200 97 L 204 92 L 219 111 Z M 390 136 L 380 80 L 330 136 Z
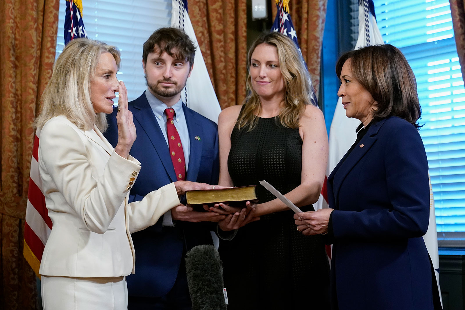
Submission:
M 171 161 L 173 162 L 174 172 L 178 180 L 186 179 L 186 162 L 184 161 L 184 151 L 182 149 L 181 138 L 174 126 L 173 108 L 165 109 L 166 114 L 166 133 L 168 135 L 168 145 L 170 147 Z

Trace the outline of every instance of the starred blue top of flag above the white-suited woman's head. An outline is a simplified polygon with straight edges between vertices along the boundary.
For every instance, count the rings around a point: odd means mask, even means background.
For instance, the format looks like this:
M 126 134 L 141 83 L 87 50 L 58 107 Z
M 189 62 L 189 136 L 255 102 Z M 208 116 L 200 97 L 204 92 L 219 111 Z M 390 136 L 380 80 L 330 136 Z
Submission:
M 65 45 L 78 38 L 87 38 L 86 28 L 82 20 L 82 1 L 66 0 Z

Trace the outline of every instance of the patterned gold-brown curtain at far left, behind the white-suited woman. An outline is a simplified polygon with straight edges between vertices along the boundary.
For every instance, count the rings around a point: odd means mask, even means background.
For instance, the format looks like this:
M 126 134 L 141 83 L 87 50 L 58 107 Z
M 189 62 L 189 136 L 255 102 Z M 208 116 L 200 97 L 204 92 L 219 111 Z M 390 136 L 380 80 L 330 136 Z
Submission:
M 33 119 L 55 60 L 59 0 L 0 1 L 0 304 L 37 309 L 22 255 Z

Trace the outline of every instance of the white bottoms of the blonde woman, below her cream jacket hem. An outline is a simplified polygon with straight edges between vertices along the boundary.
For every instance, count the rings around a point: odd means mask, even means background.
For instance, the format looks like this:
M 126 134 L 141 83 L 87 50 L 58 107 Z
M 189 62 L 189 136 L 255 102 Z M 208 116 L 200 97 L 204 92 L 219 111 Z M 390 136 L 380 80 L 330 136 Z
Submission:
M 126 277 L 41 276 L 44 310 L 127 310 Z

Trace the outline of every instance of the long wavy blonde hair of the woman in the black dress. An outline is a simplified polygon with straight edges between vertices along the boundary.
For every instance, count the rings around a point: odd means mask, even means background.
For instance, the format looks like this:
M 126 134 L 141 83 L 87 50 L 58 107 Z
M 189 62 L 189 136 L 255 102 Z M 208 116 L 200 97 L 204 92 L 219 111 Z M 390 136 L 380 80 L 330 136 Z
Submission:
M 294 42 L 287 36 L 278 32 L 263 33 L 255 40 L 247 53 L 247 76 L 246 87 L 248 95 L 244 99 L 244 108 L 239 114 L 237 127 L 239 130 L 247 127 L 251 131 L 259 117 L 256 114 L 261 112 L 259 96 L 252 87 L 250 76 L 250 66 L 252 53 L 260 44 L 275 46 L 278 51 L 279 69 L 283 75 L 286 92 L 284 96 L 284 107 L 275 117 L 275 120 L 287 128 L 298 128 L 299 119 L 305 112 L 305 106 L 311 104 L 313 87 L 310 74 L 302 61 Z

